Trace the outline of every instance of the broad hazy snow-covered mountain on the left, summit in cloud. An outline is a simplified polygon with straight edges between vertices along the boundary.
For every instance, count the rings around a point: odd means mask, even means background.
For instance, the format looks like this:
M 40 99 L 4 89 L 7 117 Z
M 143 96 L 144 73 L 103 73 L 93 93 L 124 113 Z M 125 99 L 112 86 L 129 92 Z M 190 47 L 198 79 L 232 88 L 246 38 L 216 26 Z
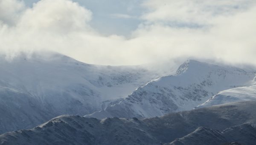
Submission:
M 171 72 L 170 72 L 171 73 Z M 162 74 L 142 66 L 90 65 L 52 52 L 0 55 L 0 133 L 62 114 L 90 114 Z

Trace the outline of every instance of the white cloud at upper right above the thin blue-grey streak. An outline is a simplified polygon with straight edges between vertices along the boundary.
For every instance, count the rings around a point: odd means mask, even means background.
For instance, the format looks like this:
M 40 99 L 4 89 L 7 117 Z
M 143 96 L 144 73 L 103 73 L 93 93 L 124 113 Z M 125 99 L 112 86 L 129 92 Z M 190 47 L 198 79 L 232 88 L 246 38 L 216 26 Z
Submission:
M 151 22 L 198 23 L 207 25 L 219 15 L 230 15 L 246 10 L 253 0 L 146 0 L 148 13 L 142 18 Z

